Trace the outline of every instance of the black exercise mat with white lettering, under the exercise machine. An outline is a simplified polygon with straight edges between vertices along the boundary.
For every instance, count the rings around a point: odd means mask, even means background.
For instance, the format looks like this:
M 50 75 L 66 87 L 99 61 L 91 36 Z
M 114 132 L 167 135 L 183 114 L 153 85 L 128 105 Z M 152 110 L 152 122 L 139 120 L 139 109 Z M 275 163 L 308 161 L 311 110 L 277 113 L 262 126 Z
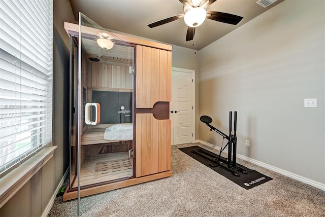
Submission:
M 235 176 L 231 171 L 226 170 L 224 167 L 222 166 L 217 166 L 217 167 L 211 167 L 209 164 L 211 163 L 211 161 L 197 153 L 191 153 L 191 150 L 204 150 L 205 152 L 208 152 L 214 156 L 218 156 L 215 153 L 209 152 L 205 149 L 202 149 L 201 147 L 198 146 L 192 146 L 192 147 L 186 147 L 186 148 L 179 148 L 180 151 L 184 152 L 185 154 L 187 154 L 188 156 L 196 159 L 197 161 L 199 161 L 200 163 L 206 165 L 207 167 L 213 169 L 214 171 L 216 171 L 217 173 L 219 173 L 220 175 L 223 175 L 224 177 L 232 180 L 234 183 L 236 183 L 237 185 L 243 187 L 244 189 L 251 189 L 255 186 L 261 185 L 263 183 L 268 182 L 269 180 L 272 180 L 273 178 L 266 176 L 262 173 L 257 172 L 256 170 L 251 170 L 248 169 L 245 166 L 242 166 L 240 164 L 238 164 L 238 166 L 244 168 L 247 170 L 247 174 L 243 174 L 243 173 L 239 173 L 240 176 Z

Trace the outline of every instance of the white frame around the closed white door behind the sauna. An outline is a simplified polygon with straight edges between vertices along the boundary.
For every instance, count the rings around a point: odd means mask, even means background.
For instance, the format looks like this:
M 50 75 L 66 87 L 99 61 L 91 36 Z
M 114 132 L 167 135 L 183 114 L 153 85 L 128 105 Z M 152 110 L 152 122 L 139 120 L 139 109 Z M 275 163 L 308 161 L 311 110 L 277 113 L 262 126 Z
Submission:
M 193 106 L 193 112 L 192 112 L 192 128 L 193 128 L 193 136 L 192 136 L 192 140 L 191 142 L 194 142 L 195 140 L 195 111 L 196 111 L 196 107 L 195 107 L 195 70 L 191 70 L 191 69 L 185 69 L 185 68 L 176 68 L 176 67 L 172 67 L 172 101 L 171 104 L 174 106 L 174 71 L 178 71 L 181 73 L 190 73 L 192 74 L 192 78 L 193 78 L 193 82 L 192 82 L 192 106 Z M 174 145 L 174 139 L 175 139 L 175 135 L 174 135 L 174 116 L 172 118 L 170 118 L 172 120 L 172 136 L 171 136 L 171 144 L 172 146 Z

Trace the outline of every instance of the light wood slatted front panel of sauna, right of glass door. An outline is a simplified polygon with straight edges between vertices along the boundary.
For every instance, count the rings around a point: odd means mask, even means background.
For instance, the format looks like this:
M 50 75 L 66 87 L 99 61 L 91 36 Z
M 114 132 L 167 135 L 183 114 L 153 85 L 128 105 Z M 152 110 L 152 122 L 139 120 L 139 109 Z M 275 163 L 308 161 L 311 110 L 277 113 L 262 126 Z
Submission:
M 137 46 L 136 52 L 136 177 L 140 177 L 171 169 L 171 120 L 155 119 L 148 108 L 171 101 L 172 56 L 170 51 L 145 46 Z

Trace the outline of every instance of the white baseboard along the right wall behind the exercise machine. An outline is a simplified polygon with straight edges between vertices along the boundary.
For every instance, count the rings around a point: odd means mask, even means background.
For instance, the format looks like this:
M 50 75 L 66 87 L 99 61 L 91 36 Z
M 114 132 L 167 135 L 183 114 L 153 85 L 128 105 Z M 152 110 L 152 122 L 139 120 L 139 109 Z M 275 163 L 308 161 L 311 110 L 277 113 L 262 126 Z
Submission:
M 202 140 L 200 140 L 200 139 L 197 139 L 196 142 L 199 142 L 199 143 L 201 143 L 201 144 L 205 144 L 205 145 L 208 146 L 208 147 L 211 147 L 211 148 L 213 148 L 213 149 L 216 149 L 216 150 L 220 151 L 220 147 L 215 146 L 214 144 L 210 144 L 210 143 L 205 142 L 205 141 L 202 141 Z M 227 150 L 224 150 L 224 153 L 228 153 Z M 249 157 L 246 157 L 246 156 L 244 156 L 244 155 L 237 154 L 237 157 L 240 158 L 240 159 L 242 159 L 242 160 L 248 161 L 248 162 L 253 163 L 253 164 L 256 164 L 256 165 L 258 165 L 258 166 L 262 166 L 262 167 L 264 167 L 264 168 L 266 168 L 266 169 L 272 170 L 272 171 L 274 171 L 274 172 L 280 173 L 280 174 L 285 175 L 285 176 L 288 176 L 288 177 L 290 177 L 290 178 L 294 178 L 294 179 L 296 179 L 296 180 L 299 180 L 300 182 L 306 183 L 306 184 L 308 184 L 308 185 L 311 185 L 311 186 L 313 186 L 313 187 L 316 187 L 316 188 L 318 188 L 318 189 L 320 189 L 320 190 L 325 191 L 325 184 L 322 184 L 322 183 L 316 182 L 316 181 L 314 181 L 314 180 L 312 180 L 312 179 L 309 179 L 309 178 L 303 177 L 303 176 L 301 176 L 301 175 L 297 175 L 297 174 L 292 173 L 292 172 L 288 172 L 288 171 L 286 171 L 286 170 L 283 170 L 283 169 L 280 169 L 280 168 L 278 168 L 278 167 L 275 167 L 275 166 L 272 166 L 272 165 L 269 165 L 269 164 L 263 163 L 263 162 L 261 162 L 261 161 L 254 160 L 254 159 L 249 158 Z

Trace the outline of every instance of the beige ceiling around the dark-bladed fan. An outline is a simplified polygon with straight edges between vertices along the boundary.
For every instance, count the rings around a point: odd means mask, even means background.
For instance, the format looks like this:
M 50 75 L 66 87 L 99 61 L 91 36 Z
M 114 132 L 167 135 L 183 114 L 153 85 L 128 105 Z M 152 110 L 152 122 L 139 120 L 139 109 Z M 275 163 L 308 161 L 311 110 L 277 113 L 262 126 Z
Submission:
M 70 3 L 76 20 L 78 12 L 82 12 L 107 29 L 201 50 L 284 0 L 278 0 L 267 8 L 257 5 L 256 1 L 217 0 L 207 10 L 235 14 L 243 19 L 237 25 L 206 19 L 197 27 L 194 40 L 188 42 L 185 42 L 187 26 L 183 19 L 154 28 L 147 26 L 148 23 L 184 13 L 178 0 L 70 0 Z

